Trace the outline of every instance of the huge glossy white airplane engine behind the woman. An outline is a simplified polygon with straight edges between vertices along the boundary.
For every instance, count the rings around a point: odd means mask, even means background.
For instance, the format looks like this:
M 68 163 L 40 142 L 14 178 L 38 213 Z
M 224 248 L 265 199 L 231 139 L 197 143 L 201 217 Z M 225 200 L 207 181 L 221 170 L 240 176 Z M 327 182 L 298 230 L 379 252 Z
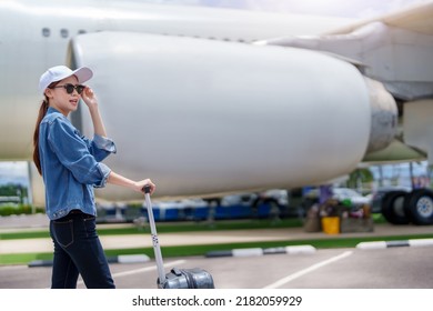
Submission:
M 108 165 L 151 178 L 158 197 L 318 184 L 350 173 L 377 146 L 371 86 L 352 64 L 319 52 L 99 32 L 75 37 L 68 59 L 94 71 L 89 84 L 118 148 Z M 72 121 L 92 134 L 85 109 Z

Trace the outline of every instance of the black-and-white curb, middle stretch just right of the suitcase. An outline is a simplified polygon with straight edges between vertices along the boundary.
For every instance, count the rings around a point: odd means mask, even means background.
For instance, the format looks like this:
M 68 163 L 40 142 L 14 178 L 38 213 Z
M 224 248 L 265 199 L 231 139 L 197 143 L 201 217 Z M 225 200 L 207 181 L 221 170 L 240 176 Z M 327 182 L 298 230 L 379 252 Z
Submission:
M 211 251 L 207 253 L 207 258 L 215 257 L 259 257 L 265 254 L 276 254 L 276 253 L 286 253 L 286 254 L 300 254 L 300 253 L 313 253 L 315 248 L 312 245 L 296 245 L 296 247 L 285 247 L 285 248 L 269 248 L 269 249 L 233 249 L 225 251 Z

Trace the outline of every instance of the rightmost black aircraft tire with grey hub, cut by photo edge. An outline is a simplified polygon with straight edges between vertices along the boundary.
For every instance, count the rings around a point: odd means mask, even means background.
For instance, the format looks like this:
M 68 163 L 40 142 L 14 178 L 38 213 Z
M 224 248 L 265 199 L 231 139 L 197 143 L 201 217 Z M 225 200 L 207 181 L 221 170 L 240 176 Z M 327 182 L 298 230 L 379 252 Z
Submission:
M 404 210 L 414 224 L 433 224 L 433 191 L 412 191 L 404 199 Z

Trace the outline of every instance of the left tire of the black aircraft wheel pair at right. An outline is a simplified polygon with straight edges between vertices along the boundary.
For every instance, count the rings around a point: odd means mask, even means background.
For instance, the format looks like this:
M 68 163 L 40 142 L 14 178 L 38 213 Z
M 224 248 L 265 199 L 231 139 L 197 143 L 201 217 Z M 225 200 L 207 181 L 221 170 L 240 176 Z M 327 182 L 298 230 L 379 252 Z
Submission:
M 392 224 L 407 224 L 410 222 L 404 209 L 407 195 L 405 191 L 391 191 L 383 197 L 382 214 Z

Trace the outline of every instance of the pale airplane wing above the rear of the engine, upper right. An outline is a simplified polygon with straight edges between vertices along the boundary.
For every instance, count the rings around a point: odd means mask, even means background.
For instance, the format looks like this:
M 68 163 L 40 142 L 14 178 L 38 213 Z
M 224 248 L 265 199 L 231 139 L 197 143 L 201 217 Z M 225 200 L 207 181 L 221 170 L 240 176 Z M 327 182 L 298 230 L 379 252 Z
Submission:
M 397 99 L 433 96 L 433 2 L 336 29 L 321 36 L 285 37 L 258 44 L 333 53 L 385 83 Z

